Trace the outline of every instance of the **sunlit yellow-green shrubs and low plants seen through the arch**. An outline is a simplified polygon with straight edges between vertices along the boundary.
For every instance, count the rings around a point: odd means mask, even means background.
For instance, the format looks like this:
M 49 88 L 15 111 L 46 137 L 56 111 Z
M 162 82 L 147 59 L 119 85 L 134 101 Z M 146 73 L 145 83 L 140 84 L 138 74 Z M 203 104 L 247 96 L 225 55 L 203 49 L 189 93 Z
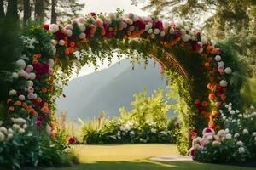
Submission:
M 86 144 L 124 144 L 124 143 L 175 143 L 177 118 L 169 118 L 170 109 L 162 90 L 150 97 L 147 92 L 134 95 L 133 109 L 120 109 L 120 117 L 85 123 L 82 127 L 83 141 Z

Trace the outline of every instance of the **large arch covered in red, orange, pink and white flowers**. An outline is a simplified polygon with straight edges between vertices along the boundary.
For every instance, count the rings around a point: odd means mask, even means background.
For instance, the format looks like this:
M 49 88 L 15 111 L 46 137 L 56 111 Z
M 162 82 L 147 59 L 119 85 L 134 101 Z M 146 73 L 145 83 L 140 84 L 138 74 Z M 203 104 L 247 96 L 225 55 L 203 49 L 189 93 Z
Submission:
M 224 49 L 189 26 L 135 14 L 92 13 L 66 24 L 31 26 L 22 39 L 23 53 L 16 61 L 7 100 L 8 117 L 26 117 L 42 127 L 49 124 L 52 135 L 60 80 L 67 82 L 74 65 L 111 60 L 113 51 L 128 54 L 132 63 L 138 59 L 147 63 L 148 57 L 160 63 L 187 105 L 182 115 L 189 132 L 221 127 L 218 110 L 234 98 L 230 67 L 236 63 Z

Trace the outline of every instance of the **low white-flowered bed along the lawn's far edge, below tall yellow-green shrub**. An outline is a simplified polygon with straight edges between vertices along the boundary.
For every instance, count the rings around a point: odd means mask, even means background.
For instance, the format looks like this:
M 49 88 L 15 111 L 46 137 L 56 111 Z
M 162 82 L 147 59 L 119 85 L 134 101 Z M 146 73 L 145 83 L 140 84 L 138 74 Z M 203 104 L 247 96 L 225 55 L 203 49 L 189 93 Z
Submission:
M 129 143 L 176 143 L 176 118 L 168 120 L 166 126 L 160 122 L 138 123 L 113 118 L 101 126 L 89 122 L 82 127 L 84 144 L 129 144 Z M 94 125 L 93 125 L 94 124 Z

